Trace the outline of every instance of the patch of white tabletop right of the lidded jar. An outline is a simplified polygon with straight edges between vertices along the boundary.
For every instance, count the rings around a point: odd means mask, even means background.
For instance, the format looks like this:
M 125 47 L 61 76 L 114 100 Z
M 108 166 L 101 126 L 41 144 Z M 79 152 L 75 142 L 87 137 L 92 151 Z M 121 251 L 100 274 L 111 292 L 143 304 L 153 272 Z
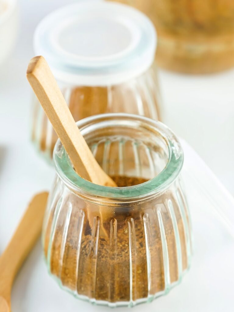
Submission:
M 159 78 L 164 122 L 234 195 L 234 69 L 203 76 L 160 71 Z

